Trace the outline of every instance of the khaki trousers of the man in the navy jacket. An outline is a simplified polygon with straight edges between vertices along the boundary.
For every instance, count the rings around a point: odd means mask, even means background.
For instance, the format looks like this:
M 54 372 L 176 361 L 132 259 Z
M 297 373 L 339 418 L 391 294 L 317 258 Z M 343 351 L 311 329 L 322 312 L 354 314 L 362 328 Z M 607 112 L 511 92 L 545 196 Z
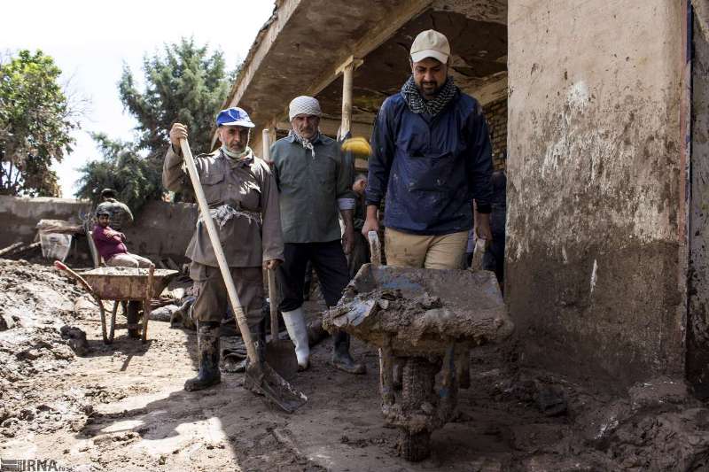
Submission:
M 467 245 L 468 231 L 440 236 L 412 235 L 392 228 L 384 231 L 388 266 L 460 269 Z

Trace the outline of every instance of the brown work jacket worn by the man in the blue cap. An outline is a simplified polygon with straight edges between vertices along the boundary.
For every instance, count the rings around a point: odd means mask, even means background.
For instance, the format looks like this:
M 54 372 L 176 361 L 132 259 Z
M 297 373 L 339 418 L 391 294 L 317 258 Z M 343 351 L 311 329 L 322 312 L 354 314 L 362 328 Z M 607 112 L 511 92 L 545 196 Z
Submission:
M 219 241 L 230 267 L 261 267 L 270 259 L 283 260 L 283 235 L 278 189 L 269 166 L 253 156 L 233 160 L 221 150 L 195 158 L 199 181 L 210 209 L 229 205 L 230 218 L 214 218 Z M 191 190 L 182 156 L 169 147 L 162 168 L 168 190 Z M 185 255 L 193 262 L 218 267 L 206 225 L 200 215 Z

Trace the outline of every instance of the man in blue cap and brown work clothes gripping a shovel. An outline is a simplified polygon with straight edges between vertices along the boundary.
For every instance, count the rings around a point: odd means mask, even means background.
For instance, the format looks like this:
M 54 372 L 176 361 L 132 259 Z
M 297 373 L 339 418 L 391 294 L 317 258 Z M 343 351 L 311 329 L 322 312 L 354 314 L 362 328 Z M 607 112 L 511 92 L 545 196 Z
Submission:
M 255 159 L 248 146 L 254 126 L 248 114 L 238 107 L 222 110 L 216 125 L 222 147 L 198 156 L 195 164 L 249 330 L 260 344 L 256 351 L 262 356 L 261 269 L 275 270 L 284 259 L 278 191 L 269 166 Z M 191 189 L 183 167 L 182 139 L 187 139 L 187 128 L 175 123 L 170 129 L 170 149 L 162 172 L 168 190 Z M 199 374 L 184 384 L 185 390 L 194 391 L 221 380 L 219 326 L 229 303 L 201 216 L 186 255 L 192 261 L 190 276 L 198 291 L 193 309 L 198 325 Z

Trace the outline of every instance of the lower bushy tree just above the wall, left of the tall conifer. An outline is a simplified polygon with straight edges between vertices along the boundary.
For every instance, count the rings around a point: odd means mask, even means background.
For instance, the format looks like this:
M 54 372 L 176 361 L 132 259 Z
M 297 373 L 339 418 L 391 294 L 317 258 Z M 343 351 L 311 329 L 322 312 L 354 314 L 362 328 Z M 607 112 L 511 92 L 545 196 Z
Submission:
M 76 196 L 89 198 L 97 204 L 103 189 L 116 190 L 116 197 L 134 212 L 147 200 L 160 199 L 162 166 L 156 159 L 144 159 L 136 143 L 109 139 L 105 134 L 91 137 L 103 159 L 82 166 Z

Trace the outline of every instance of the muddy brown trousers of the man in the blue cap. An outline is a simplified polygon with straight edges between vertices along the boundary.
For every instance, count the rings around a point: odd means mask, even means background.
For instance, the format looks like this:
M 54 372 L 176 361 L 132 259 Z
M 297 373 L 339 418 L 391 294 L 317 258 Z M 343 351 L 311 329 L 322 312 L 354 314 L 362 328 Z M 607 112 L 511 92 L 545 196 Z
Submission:
M 249 330 L 258 336 L 263 321 L 263 279 L 261 267 L 230 267 L 231 278 Z M 197 299 L 192 308 L 196 321 L 222 322 L 229 306 L 229 294 L 219 267 L 204 266 L 192 262 L 190 276 L 197 290 Z M 233 323 L 234 321 L 230 321 Z

